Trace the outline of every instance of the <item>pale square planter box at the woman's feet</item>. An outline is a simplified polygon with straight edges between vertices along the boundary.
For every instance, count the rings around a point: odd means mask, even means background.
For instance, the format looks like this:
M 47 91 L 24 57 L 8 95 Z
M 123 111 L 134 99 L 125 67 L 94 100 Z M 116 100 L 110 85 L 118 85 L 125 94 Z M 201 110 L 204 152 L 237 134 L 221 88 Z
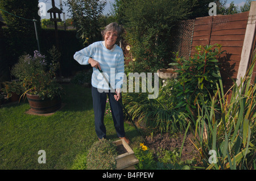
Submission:
M 135 157 L 134 151 L 124 140 L 113 141 L 115 145 L 123 145 L 126 151 L 125 153 L 117 155 L 115 161 L 117 161 L 116 170 L 135 170 L 135 164 L 139 163 L 139 160 Z

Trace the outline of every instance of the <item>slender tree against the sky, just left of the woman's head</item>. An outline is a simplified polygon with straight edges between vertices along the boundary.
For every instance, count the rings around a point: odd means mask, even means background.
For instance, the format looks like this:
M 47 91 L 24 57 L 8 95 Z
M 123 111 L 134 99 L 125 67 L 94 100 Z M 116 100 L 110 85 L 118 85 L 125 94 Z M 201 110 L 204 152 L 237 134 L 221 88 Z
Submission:
M 106 5 L 105 0 L 68 0 L 73 24 L 83 44 L 90 44 L 101 39 L 99 18 Z

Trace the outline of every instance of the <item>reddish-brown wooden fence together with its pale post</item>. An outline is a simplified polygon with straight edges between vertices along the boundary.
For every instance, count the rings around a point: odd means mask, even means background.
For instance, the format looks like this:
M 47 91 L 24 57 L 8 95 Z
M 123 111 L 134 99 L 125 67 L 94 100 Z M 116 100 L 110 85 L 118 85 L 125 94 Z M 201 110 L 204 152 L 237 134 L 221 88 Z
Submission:
M 221 44 L 222 50 L 226 50 L 219 60 L 221 63 L 221 76 L 225 90 L 228 90 L 233 85 L 233 81 L 243 75 L 238 75 L 238 72 L 241 72 L 239 69 L 242 66 L 247 68 L 250 66 L 251 62 L 245 59 L 246 56 L 250 56 L 251 60 L 255 49 L 255 12 L 256 3 L 252 3 L 250 11 L 240 14 L 206 16 L 196 18 L 194 21 L 187 20 L 185 23 L 182 22 L 183 24 L 189 23 L 190 27 L 191 23 L 194 23 L 193 33 L 189 33 L 191 34 L 191 42 L 188 41 L 188 34 L 180 33 L 176 40 L 182 40 L 186 37 L 187 41 L 180 43 L 176 50 L 179 50 L 180 55 L 188 54 L 187 47 L 190 46 L 189 56 L 192 56 L 196 53 L 196 45 Z M 180 28 L 180 31 L 187 30 Z M 245 72 L 245 70 L 242 71 Z M 253 83 L 255 83 L 255 75 L 256 66 L 254 66 Z

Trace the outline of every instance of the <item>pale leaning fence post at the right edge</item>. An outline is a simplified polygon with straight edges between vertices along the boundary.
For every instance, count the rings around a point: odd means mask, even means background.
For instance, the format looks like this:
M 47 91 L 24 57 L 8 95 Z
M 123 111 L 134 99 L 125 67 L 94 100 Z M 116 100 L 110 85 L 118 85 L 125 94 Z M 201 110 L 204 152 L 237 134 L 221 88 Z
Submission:
M 245 39 L 243 40 L 243 48 L 241 53 L 241 60 L 237 73 L 237 85 L 240 85 L 241 78 L 245 77 L 251 53 L 253 53 L 253 40 L 255 35 L 255 27 L 256 27 L 256 1 L 251 2 L 251 7 L 249 11 Z

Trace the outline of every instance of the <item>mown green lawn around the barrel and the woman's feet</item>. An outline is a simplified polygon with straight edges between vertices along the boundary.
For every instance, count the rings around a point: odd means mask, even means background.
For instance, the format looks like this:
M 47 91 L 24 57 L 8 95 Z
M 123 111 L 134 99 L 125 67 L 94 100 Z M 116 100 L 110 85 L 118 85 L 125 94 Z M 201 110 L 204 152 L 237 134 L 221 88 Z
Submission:
M 91 89 L 63 85 L 65 106 L 51 116 L 28 115 L 27 102 L 0 108 L 0 169 L 71 169 L 77 155 L 98 141 L 94 129 Z M 111 117 L 105 118 L 107 139 L 117 140 Z M 141 137 L 125 123 L 127 137 L 138 145 Z M 46 164 L 38 163 L 39 150 Z

